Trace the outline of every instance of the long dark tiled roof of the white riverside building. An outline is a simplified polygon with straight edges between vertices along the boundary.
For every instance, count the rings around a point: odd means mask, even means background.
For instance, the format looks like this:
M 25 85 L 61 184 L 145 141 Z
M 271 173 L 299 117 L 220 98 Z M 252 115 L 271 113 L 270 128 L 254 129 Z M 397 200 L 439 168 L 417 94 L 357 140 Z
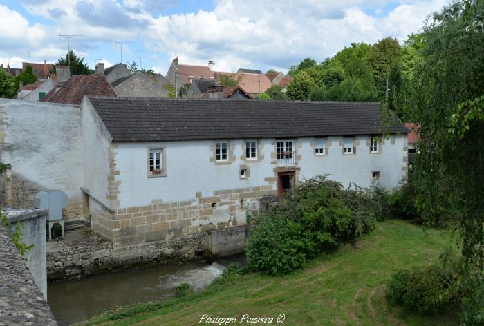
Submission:
M 113 142 L 380 133 L 380 104 L 89 97 Z M 385 128 L 384 131 L 387 131 Z M 408 133 L 400 122 L 389 133 Z

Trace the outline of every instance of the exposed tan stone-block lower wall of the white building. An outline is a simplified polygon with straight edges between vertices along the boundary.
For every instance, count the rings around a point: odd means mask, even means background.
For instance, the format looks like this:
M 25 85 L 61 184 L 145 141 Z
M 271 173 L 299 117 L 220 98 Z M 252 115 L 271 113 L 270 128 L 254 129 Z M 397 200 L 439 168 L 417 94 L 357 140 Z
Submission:
M 245 225 L 246 211 L 257 213 L 259 199 L 268 195 L 277 195 L 274 186 L 219 190 L 207 197 L 196 193 L 191 200 L 155 200 L 147 206 L 114 211 L 93 203 L 91 225 L 95 233 L 120 244 L 170 240 Z

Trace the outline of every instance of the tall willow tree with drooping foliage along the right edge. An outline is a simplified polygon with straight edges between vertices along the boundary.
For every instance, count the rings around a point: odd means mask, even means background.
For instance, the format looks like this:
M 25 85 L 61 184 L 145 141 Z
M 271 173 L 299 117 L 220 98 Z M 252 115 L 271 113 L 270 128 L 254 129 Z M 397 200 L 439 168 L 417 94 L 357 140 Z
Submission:
M 422 30 L 416 66 L 420 124 L 414 180 L 429 222 L 446 221 L 460 235 L 467 262 L 484 267 L 484 1 L 456 1 Z

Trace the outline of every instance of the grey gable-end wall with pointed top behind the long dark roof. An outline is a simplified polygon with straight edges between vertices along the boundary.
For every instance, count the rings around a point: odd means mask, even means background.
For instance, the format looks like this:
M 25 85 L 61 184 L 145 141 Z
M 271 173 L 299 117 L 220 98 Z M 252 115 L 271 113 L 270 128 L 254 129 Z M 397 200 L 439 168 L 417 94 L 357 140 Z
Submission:
M 168 90 L 144 73 L 136 73 L 115 86 L 114 91 L 116 95 L 124 97 L 168 97 Z

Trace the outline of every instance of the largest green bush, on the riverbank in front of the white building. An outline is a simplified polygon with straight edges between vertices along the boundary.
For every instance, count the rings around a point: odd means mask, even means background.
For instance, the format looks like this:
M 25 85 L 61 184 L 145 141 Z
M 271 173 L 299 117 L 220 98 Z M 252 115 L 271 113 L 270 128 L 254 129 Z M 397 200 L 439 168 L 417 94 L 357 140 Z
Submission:
M 370 189 L 343 189 L 326 175 L 305 180 L 256 218 L 248 268 L 272 275 L 295 271 L 322 251 L 373 230 L 379 207 Z

